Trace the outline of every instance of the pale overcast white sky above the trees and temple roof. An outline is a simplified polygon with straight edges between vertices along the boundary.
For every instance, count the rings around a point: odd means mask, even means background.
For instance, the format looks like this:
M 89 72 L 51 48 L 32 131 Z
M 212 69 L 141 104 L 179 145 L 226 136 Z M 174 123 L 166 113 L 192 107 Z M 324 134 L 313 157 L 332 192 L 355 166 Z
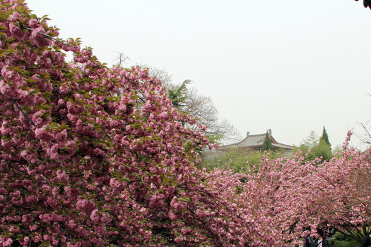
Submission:
M 102 62 L 123 52 L 128 66 L 192 80 L 243 137 L 271 128 L 299 145 L 324 125 L 333 146 L 371 118 L 371 10 L 361 1 L 26 0 Z

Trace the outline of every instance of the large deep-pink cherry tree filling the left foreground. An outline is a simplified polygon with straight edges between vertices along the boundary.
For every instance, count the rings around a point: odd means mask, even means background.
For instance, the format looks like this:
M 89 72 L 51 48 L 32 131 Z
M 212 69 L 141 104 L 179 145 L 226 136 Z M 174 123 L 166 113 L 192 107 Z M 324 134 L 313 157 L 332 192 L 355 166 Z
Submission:
M 22 0 L 0 10 L 0 246 L 258 246 L 159 80 L 106 67 Z

